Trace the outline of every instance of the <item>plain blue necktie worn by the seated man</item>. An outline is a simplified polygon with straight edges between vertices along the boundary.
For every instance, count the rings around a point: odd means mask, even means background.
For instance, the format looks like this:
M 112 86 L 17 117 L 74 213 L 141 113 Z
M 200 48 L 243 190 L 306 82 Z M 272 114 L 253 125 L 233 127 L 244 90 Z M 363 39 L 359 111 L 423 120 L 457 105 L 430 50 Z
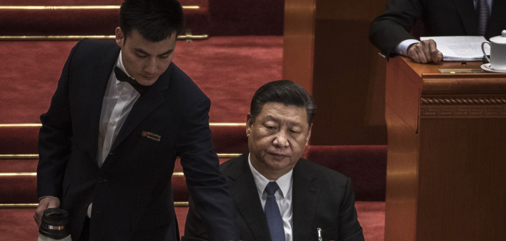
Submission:
M 269 182 L 265 187 L 267 200 L 265 201 L 264 212 L 272 241 L 285 241 L 283 219 L 281 218 L 281 213 L 276 203 L 276 197 L 274 196 L 274 193 L 276 193 L 278 189 L 279 186 L 276 182 Z

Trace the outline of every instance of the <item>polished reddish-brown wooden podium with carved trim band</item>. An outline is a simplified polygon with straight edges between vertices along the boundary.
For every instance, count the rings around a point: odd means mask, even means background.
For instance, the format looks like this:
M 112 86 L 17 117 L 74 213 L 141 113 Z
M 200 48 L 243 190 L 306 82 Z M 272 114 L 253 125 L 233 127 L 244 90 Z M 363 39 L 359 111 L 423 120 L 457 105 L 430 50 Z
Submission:
M 385 241 L 506 240 L 506 74 L 387 65 Z

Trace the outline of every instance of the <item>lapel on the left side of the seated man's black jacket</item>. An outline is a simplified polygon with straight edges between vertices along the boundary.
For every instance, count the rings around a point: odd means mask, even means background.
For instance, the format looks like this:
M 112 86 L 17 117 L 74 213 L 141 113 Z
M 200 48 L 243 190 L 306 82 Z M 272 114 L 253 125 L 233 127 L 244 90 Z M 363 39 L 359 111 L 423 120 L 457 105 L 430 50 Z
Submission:
M 257 185 L 248 165 L 248 153 L 239 156 L 236 170 L 229 175 L 230 191 L 242 218 L 257 241 L 270 241 L 269 227 L 257 192 Z

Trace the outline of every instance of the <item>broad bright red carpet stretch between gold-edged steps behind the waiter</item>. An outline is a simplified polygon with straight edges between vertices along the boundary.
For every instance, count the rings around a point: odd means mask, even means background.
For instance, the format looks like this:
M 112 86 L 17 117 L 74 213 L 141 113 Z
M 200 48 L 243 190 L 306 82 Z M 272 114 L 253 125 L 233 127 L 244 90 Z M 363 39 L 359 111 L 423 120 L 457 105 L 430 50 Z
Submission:
M 174 63 L 210 97 L 210 122 L 245 122 L 255 90 L 281 78 L 282 41 L 282 36 L 179 41 Z M 0 124 L 40 122 L 75 43 L 0 42 Z

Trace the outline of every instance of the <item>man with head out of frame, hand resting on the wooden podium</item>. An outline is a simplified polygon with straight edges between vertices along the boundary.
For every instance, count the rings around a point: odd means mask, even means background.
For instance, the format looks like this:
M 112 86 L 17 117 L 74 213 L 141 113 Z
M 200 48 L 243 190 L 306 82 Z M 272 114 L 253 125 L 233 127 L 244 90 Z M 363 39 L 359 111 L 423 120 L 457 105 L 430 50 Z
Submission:
M 443 55 L 429 39 L 409 33 L 416 19 L 424 36 L 478 35 L 490 38 L 506 29 L 503 0 L 390 0 L 372 22 L 369 39 L 385 56 L 408 56 L 418 63 L 439 62 Z

